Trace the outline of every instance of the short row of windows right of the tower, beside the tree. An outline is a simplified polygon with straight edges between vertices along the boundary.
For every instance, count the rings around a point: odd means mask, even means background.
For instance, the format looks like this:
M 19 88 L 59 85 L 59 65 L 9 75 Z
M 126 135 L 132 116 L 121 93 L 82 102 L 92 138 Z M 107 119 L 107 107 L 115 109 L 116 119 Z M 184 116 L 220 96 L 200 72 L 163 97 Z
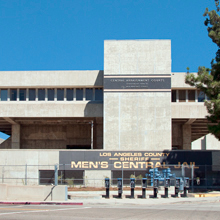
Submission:
M 172 90 L 172 102 L 204 102 L 207 99 L 199 90 Z

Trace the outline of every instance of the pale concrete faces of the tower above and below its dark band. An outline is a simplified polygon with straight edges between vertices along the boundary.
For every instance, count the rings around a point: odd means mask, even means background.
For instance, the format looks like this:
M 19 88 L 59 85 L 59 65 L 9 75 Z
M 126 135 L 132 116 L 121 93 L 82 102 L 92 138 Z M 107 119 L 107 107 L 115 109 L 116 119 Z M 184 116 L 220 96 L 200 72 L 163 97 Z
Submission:
M 171 74 L 170 40 L 105 41 L 104 73 Z M 104 149 L 171 149 L 170 92 L 105 92 Z

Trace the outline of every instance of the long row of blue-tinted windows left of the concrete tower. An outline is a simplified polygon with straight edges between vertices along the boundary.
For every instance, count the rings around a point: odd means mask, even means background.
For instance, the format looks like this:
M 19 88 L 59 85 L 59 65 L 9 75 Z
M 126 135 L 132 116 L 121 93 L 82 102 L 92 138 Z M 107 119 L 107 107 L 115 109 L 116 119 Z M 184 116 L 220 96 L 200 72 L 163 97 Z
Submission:
M 0 89 L 1 101 L 103 101 L 102 88 Z

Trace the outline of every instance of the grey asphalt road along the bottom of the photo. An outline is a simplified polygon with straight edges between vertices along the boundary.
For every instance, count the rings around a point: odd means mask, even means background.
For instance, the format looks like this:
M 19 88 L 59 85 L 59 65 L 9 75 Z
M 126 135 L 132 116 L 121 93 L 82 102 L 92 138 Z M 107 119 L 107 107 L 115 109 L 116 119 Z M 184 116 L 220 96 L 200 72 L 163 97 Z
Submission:
M 220 219 L 220 202 L 195 201 L 154 205 L 1 205 L 0 219 L 35 220 L 35 219 Z

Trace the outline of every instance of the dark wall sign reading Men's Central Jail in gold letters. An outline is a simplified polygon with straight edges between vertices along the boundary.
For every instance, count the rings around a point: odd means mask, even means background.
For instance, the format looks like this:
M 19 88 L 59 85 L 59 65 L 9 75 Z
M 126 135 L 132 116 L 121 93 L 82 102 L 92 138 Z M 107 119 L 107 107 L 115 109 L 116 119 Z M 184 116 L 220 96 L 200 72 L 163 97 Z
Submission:
M 213 158 L 213 151 L 60 151 L 59 164 L 65 170 L 146 170 L 182 164 L 197 168 L 213 165 Z

